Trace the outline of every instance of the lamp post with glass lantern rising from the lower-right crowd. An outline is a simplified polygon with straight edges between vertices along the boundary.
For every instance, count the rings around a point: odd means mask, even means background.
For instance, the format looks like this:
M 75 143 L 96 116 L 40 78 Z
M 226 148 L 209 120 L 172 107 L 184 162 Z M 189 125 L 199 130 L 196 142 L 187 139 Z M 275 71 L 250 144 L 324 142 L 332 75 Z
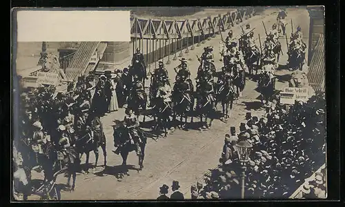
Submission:
M 249 154 L 250 150 L 253 147 L 248 141 L 239 141 L 236 144 L 237 155 L 239 157 L 239 161 L 241 162 L 241 169 L 242 169 L 242 189 L 241 189 L 241 197 L 244 199 L 244 178 L 246 177 L 246 163 L 249 161 Z

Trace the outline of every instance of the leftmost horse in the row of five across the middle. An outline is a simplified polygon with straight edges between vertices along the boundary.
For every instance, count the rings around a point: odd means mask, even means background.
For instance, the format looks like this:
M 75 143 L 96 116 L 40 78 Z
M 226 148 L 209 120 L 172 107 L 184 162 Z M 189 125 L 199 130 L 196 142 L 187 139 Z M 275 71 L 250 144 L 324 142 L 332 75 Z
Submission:
M 130 89 L 130 95 L 127 99 L 128 101 L 128 107 L 132 108 L 135 115 L 137 115 L 139 119 L 139 109 L 146 110 L 147 107 L 147 95 L 143 88 L 131 88 Z M 145 115 L 143 118 L 143 122 L 145 122 Z

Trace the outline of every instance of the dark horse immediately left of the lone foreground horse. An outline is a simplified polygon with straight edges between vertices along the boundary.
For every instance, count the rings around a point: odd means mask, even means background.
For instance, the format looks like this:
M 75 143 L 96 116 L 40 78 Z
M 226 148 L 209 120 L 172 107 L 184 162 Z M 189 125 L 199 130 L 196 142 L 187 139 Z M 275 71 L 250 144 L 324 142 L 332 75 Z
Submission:
M 85 131 L 79 132 L 79 137 L 75 140 L 75 146 L 77 146 L 77 151 L 80 156 L 83 153 L 86 154 L 86 164 L 88 164 L 90 152 L 95 152 L 95 165 L 97 167 L 99 151 L 98 148 L 101 147 L 104 157 L 104 167 L 107 166 L 107 152 L 106 152 L 106 135 L 103 132 L 103 124 L 101 119 L 95 115 L 95 113 L 90 112 L 88 119 L 86 120 Z

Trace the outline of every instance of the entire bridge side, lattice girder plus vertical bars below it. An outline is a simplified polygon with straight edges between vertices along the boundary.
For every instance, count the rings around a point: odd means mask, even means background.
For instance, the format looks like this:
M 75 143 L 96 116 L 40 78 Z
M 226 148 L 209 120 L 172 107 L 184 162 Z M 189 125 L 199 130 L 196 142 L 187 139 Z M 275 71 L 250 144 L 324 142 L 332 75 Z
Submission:
M 253 17 L 254 8 L 229 8 L 228 12 L 197 19 L 146 19 L 131 17 L 132 51 L 139 48 L 144 54 L 147 65 L 165 61 L 170 63 L 177 57 L 183 57 L 182 50 L 188 53 L 195 46 L 205 43 L 206 39 L 224 32 L 238 23 Z M 157 67 L 157 64 L 155 64 Z M 148 68 L 150 71 L 151 68 Z

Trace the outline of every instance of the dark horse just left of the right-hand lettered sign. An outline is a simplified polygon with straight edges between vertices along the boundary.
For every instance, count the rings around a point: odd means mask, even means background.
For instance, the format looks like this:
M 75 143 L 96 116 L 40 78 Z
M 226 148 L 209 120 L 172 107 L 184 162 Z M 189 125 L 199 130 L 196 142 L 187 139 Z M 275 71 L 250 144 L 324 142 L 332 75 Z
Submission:
M 257 90 L 262 94 L 262 103 L 268 103 L 275 92 L 275 77 L 270 78 L 268 73 L 262 73 L 257 83 Z

